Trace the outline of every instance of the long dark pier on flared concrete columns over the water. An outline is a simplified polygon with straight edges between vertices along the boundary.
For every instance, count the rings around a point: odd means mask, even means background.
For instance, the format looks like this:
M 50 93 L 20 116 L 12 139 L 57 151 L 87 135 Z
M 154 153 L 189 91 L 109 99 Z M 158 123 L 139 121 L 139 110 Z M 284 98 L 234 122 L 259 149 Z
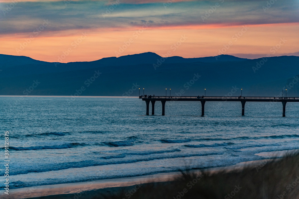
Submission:
M 152 115 L 155 115 L 155 102 L 161 101 L 162 115 L 165 115 L 166 101 L 200 101 L 202 105 L 202 116 L 205 115 L 205 103 L 207 101 L 239 101 L 242 104 L 242 115 L 245 115 L 245 103 L 247 101 L 258 102 L 282 102 L 283 117 L 286 116 L 286 103 L 299 102 L 299 97 L 221 97 L 221 96 L 139 96 L 140 99 L 145 101 L 147 105 L 147 115 L 149 115 L 149 103 L 152 103 Z

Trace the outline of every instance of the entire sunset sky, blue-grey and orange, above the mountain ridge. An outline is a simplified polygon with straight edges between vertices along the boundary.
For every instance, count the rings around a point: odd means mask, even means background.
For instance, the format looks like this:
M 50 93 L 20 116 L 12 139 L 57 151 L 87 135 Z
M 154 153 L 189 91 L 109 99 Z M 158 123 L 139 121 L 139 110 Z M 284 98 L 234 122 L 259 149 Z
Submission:
M 299 0 L 0 0 L 0 54 L 49 62 L 299 56 L 298 33 Z

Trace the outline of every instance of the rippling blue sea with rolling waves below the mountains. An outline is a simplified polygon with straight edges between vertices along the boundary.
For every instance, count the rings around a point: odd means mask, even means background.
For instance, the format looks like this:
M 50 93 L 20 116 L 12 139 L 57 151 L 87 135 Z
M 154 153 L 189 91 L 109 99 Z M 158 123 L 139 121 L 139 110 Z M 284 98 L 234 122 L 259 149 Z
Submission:
M 299 149 L 299 103 L 287 103 L 286 117 L 280 102 L 247 102 L 245 116 L 240 102 L 206 102 L 205 117 L 200 102 L 166 102 L 164 116 L 161 109 L 157 101 L 157 115 L 146 115 L 138 98 L 0 97 L 10 189 L 229 166 Z

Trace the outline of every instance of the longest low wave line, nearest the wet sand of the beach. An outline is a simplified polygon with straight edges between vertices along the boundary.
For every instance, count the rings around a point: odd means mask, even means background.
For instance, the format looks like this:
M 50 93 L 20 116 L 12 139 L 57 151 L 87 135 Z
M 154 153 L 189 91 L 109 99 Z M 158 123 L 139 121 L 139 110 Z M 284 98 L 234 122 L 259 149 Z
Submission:
M 48 171 L 58 171 L 63 169 L 70 169 L 70 168 L 83 168 L 88 166 L 102 166 L 102 165 L 115 165 L 115 164 L 126 164 L 126 163 L 136 163 L 140 161 L 152 161 L 152 160 L 160 160 L 160 159 L 168 159 L 168 158 L 186 158 L 186 157 L 193 157 L 193 156 L 208 156 L 208 155 L 223 155 L 222 152 L 212 152 L 212 153 L 197 153 L 197 154 L 176 154 L 172 156 L 163 156 L 163 157 L 143 157 L 140 159 L 134 160 L 123 160 L 123 161 L 94 161 L 94 160 L 86 160 L 86 161 L 79 161 L 79 162 L 66 162 L 66 163 L 58 163 L 53 165 L 39 165 L 37 168 L 33 169 L 24 169 L 19 171 L 12 171 L 11 175 L 19 175 L 19 174 L 27 174 L 31 172 L 48 172 Z M 103 160 L 103 159 L 102 159 Z M 0 175 L 1 172 L 0 172 Z

